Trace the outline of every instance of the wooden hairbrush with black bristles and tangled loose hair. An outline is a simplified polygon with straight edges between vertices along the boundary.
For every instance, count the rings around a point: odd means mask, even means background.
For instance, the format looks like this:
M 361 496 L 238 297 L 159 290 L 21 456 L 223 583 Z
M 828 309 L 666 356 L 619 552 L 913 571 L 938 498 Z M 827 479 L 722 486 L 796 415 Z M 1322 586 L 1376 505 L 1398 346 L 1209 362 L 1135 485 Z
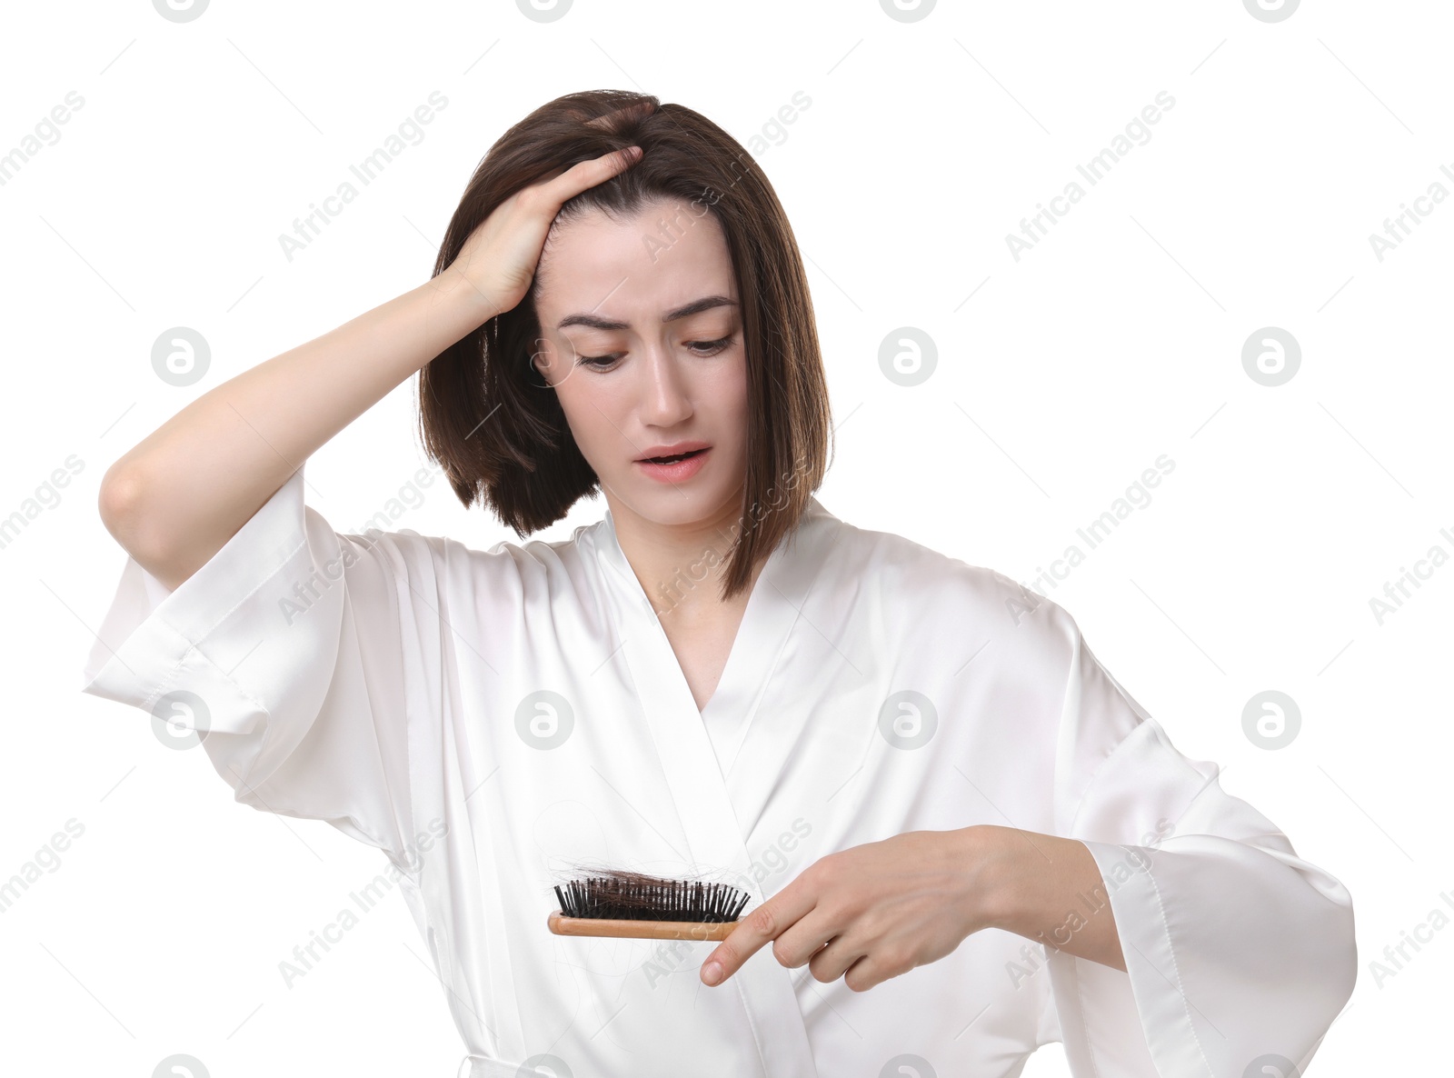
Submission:
M 555 935 L 640 940 L 726 940 L 752 898 L 728 883 L 666 880 L 615 869 L 555 886 L 560 909 L 545 918 Z

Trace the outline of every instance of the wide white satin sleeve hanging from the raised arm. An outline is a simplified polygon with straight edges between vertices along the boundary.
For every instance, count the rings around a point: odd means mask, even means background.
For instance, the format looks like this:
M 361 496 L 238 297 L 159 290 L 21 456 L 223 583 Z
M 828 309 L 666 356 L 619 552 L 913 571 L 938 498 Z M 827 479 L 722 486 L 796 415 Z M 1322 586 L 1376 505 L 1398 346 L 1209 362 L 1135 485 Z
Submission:
M 438 644 L 430 544 L 336 534 L 302 470 L 174 591 L 126 560 L 84 692 L 201 735 L 237 802 L 416 867 L 407 720 Z

